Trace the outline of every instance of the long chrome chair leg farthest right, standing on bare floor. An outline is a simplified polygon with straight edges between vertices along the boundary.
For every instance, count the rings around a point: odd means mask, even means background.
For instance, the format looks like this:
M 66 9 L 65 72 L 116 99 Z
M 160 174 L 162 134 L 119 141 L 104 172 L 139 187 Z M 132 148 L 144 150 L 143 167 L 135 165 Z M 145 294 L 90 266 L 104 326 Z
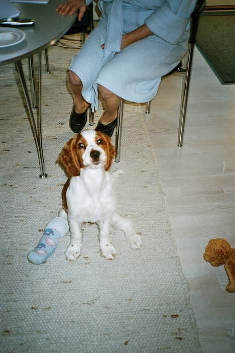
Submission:
M 181 104 L 180 104 L 180 117 L 179 117 L 179 127 L 178 127 L 178 146 L 183 144 L 183 135 L 184 135 L 184 125 L 185 125 L 185 115 L 188 102 L 188 89 L 189 89 L 189 80 L 191 74 L 192 66 L 192 57 L 193 57 L 193 44 L 189 44 L 189 54 L 186 64 L 185 75 L 182 82 L 182 94 L 181 94 Z

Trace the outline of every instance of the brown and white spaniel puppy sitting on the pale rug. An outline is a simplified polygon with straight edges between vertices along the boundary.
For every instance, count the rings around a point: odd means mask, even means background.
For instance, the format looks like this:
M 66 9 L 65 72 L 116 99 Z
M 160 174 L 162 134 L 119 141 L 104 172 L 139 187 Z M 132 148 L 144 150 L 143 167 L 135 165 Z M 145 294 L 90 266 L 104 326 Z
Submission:
M 113 156 L 110 138 L 94 130 L 75 135 L 59 154 L 58 161 L 69 177 L 62 190 L 61 210 L 63 216 L 66 212 L 71 232 L 71 242 L 65 252 L 68 260 L 75 260 L 81 253 L 83 222 L 98 224 L 101 252 L 108 259 L 116 254 L 109 237 L 111 225 L 125 232 L 131 248 L 141 247 L 142 240 L 132 222 L 115 212 L 112 182 L 120 172 L 108 172 Z

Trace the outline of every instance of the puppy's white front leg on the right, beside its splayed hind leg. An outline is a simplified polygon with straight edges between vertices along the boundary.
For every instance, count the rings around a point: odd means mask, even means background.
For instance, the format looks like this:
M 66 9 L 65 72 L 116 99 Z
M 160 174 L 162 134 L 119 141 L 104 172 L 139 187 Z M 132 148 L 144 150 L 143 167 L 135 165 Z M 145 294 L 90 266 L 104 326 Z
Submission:
M 112 245 L 109 237 L 111 217 L 104 221 L 98 222 L 98 226 L 99 226 L 99 244 L 100 244 L 100 249 L 102 251 L 102 254 L 107 259 L 112 260 L 113 256 L 116 255 L 116 250 Z

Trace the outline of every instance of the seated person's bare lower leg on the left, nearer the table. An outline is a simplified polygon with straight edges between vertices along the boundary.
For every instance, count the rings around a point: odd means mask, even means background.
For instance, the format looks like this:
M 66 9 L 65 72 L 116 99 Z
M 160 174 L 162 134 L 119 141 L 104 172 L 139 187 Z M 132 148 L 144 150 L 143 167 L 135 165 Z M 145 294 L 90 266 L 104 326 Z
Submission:
M 83 99 L 81 95 L 82 81 L 73 71 L 69 71 L 69 86 L 73 93 L 75 112 L 83 113 L 88 108 L 89 103 Z

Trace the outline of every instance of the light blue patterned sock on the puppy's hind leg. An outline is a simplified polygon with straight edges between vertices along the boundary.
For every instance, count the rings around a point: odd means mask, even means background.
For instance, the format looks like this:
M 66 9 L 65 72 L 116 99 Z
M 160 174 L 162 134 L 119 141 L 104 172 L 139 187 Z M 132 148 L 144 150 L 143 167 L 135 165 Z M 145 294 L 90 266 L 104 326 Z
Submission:
M 35 264 L 45 262 L 53 254 L 59 240 L 68 232 L 68 221 L 64 217 L 53 218 L 46 226 L 36 248 L 28 254 L 28 260 Z

